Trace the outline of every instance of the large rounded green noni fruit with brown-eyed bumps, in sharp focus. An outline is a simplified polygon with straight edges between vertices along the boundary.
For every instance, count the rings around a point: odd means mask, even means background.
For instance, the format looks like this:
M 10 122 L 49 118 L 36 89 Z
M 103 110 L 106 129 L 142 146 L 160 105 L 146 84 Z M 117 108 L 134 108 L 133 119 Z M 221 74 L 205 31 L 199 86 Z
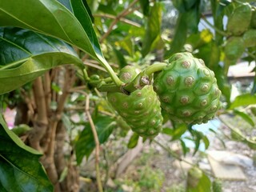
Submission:
M 221 107 L 221 91 L 214 72 L 190 53 L 174 54 L 154 79 L 163 110 L 176 122 L 201 124 Z

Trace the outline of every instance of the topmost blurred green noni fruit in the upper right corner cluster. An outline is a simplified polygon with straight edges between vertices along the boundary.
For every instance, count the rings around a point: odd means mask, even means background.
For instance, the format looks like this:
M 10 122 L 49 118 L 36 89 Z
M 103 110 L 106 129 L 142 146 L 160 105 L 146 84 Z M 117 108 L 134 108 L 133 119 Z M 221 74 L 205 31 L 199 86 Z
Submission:
M 230 34 L 243 34 L 250 26 L 250 18 L 252 15 L 252 8 L 249 3 L 243 3 L 236 7 L 230 15 L 226 30 Z

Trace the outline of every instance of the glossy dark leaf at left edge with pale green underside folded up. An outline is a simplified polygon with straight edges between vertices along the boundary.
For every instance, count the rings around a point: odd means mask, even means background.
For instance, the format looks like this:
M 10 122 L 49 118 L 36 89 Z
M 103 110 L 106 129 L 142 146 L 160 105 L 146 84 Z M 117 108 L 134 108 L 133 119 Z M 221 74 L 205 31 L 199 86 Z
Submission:
M 0 27 L 0 94 L 17 89 L 54 66 L 82 66 L 73 48 L 32 30 Z

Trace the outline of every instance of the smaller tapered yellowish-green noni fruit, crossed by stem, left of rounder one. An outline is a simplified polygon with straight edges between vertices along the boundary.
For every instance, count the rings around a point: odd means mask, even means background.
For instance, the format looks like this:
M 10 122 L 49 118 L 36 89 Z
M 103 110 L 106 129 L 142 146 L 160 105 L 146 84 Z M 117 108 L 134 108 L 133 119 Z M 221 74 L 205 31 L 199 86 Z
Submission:
M 136 69 L 124 67 L 120 71 L 120 80 L 131 82 L 136 77 Z M 153 138 L 162 130 L 161 106 L 153 86 L 144 86 L 130 95 L 108 93 L 107 98 L 118 114 L 138 135 Z

